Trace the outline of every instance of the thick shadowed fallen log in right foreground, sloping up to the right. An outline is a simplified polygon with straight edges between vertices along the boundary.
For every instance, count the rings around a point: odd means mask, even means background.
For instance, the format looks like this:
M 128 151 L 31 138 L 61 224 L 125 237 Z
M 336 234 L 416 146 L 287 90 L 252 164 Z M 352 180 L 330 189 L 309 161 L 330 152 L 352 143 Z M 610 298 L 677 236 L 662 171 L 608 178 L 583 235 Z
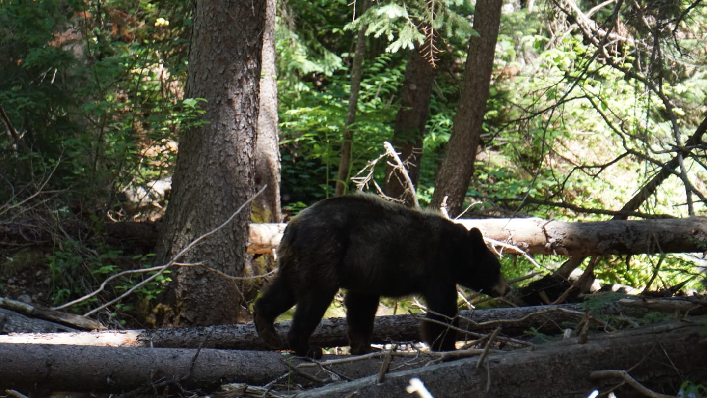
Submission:
M 702 319 L 704 322 L 704 319 Z M 410 397 L 405 387 L 413 377 L 422 380 L 434 397 L 588 397 L 617 387 L 616 379 L 591 380 L 595 370 L 628 370 L 646 387 L 675 395 L 682 382 L 707 380 L 707 341 L 699 322 L 673 322 L 662 326 L 548 343 L 491 355 L 485 366 L 478 358 L 455 360 L 420 370 L 387 375 L 385 382 L 366 377 L 339 385 L 301 392 L 305 397 Z M 617 390 L 619 397 L 636 396 L 631 387 Z

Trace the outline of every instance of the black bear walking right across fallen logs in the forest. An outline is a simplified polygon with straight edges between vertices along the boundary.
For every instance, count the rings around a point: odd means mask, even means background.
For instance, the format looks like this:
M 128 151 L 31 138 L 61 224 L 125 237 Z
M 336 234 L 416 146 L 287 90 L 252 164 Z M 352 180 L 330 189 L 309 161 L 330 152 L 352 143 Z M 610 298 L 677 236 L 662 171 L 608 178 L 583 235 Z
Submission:
M 284 348 L 273 322 L 296 304 L 287 342 L 310 358 L 322 356 L 309 339 L 339 288 L 346 290 L 352 354 L 371 349 L 380 296 L 421 295 L 436 313 L 428 319 L 449 323 L 457 314 L 457 283 L 494 297 L 510 290 L 479 229 L 371 194 L 303 210 L 287 225 L 277 255 L 278 274 L 255 302 L 255 327 L 271 348 Z M 455 348 L 455 333 L 444 324 L 423 322 L 422 336 L 434 351 Z

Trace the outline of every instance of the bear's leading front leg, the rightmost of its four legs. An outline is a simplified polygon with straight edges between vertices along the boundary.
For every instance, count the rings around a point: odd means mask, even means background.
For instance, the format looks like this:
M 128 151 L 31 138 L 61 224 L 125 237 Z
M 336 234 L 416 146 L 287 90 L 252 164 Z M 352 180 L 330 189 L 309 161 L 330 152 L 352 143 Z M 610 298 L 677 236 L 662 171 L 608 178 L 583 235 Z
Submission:
M 457 286 L 438 286 L 424 295 L 427 304 L 427 319 L 421 325 L 422 339 L 432 351 L 454 351 L 457 332 L 450 328 L 457 320 Z

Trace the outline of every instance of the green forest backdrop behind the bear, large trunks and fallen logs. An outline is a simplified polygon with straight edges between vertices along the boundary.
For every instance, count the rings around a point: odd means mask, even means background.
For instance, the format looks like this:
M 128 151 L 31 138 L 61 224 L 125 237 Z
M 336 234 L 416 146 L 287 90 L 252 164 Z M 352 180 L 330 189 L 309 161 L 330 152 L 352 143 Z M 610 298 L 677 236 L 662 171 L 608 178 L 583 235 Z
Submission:
M 395 138 L 406 110 L 401 92 L 425 83 L 417 198 L 434 203 L 464 96 L 474 4 L 379 2 L 356 20 L 353 11 L 346 1 L 277 4 L 287 214 L 334 195 L 337 181 L 385 152 L 383 142 L 414 141 Z M 204 123 L 203 101 L 186 98 L 184 89 L 191 12 L 184 1 L 0 0 L 0 228 L 37 224 L 52 236 L 42 251 L 0 241 L 2 295 L 32 292 L 32 301 L 62 305 L 119 271 L 152 266 L 151 254 L 111 246 L 105 226 L 158 220 L 180 132 Z M 706 215 L 706 25 L 699 1 L 506 1 L 463 217 Z M 351 120 L 356 50 L 362 69 Z M 406 81 L 416 57 L 430 67 L 419 81 Z M 340 178 L 346 132 L 351 163 Z M 647 200 L 625 210 L 658 176 Z M 373 178 L 386 185 L 384 161 Z M 341 189 L 355 188 L 349 182 Z M 69 238 L 67 221 L 90 227 L 82 239 Z M 539 271 L 520 257 L 503 261 L 508 278 Z M 552 270 L 561 261 L 538 262 Z M 595 272 L 604 283 L 644 288 L 650 280 L 659 289 L 688 281 L 687 288 L 704 290 L 705 261 L 614 257 Z M 124 275 L 71 310 L 86 312 L 149 275 Z M 150 302 L 169 280 L 165 273 L 142 285 L 100 314 L 102 321 L 149 323 Z

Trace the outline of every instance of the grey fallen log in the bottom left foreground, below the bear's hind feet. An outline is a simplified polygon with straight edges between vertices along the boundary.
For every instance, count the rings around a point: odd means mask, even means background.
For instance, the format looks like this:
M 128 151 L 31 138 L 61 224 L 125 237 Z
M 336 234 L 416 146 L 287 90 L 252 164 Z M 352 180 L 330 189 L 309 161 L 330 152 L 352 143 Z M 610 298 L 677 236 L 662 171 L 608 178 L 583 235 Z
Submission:
M 322 360 L 340 358 L 325 356 Z M 382 358 L 297 368 L 307 360 L 286 353 L 186 348 L 134 348 L 0 343 L 0 386 L 37 396 L 50 392 L 144 392 L 178 385 L 215 390 L 228 382 L 265 385 L 279 379 L 292 389 L 376 375 Z M 426 360 L 395 356 L 394 368 L 419 367 Z M 291 372 L 292 369 L 293 372 Z

